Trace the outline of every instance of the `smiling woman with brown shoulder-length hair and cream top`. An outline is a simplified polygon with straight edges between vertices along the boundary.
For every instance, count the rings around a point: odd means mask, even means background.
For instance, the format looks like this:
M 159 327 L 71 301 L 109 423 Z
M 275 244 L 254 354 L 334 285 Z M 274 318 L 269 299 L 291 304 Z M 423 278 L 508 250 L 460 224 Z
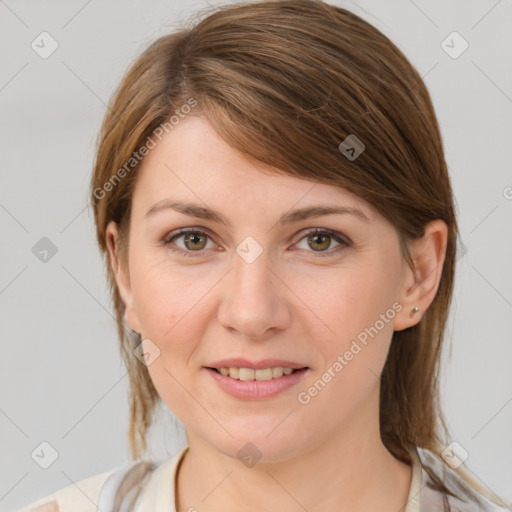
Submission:
M 452 189 L 377 29 L 285 0 L 158 39 L 110 104 L 91 201 L 138 460 L 28 509 L 505 510 L 440 410 Z M 187 446 L 157 464 L 159 401 Z

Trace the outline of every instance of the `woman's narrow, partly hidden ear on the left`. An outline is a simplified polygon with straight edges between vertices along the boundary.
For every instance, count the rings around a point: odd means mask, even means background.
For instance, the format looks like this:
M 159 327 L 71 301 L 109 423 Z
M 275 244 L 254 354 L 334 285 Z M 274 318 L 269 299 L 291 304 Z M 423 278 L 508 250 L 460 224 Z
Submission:
M 128 268 L 125 268 L 122 259 L 119 258 L 119 230 L 114 221 L 110 221 L 107 229 L 105 230 L 105 240 L 109 252 L 110 266 L 114 272 L 119 294 L 121 295 L 121 299 L 125 305 L 125 322 L 132 330 L 140 333 L 140 322 L 134 308 Z

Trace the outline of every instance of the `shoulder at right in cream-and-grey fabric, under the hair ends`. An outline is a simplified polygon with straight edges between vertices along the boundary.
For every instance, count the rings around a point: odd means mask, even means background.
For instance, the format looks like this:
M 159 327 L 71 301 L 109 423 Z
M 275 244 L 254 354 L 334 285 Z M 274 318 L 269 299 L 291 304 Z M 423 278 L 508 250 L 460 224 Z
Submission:
M 459 512 L 506 512 L 507 504 L 496 497 L 491 501 L 479 493 L 456 471 L 429 450 L 417 448 L 422 463 L 421 510 L 457 510 Z M 434 479 L 435 475 L 453 493 L 442 492 Z

